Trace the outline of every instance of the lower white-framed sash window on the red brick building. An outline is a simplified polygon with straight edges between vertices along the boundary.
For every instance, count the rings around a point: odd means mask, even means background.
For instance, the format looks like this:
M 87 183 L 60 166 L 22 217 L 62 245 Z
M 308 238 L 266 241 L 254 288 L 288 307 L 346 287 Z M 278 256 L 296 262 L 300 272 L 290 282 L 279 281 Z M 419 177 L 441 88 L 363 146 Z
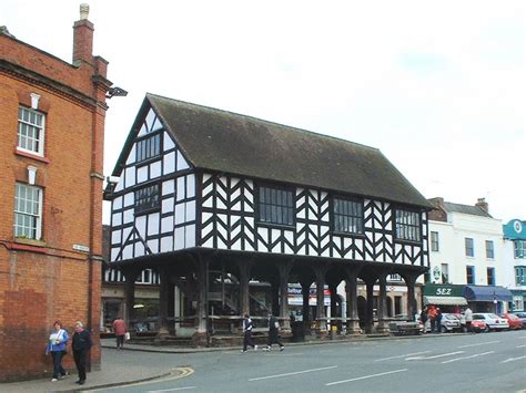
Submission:
M 14 190 L 14 237 L 42 236 L 42 188 L 17 183 Z

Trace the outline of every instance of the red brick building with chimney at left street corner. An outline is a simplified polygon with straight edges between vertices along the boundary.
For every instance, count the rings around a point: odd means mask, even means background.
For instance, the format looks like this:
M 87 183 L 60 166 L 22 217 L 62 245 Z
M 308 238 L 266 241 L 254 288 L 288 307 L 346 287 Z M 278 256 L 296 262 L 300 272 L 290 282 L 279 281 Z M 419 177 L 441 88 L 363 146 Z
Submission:
M 81 6 L 64 62 L 0 31 L 0 381 L 52 371 L 54 320 L 93 332 L 100 366 L 108 62 Z M 73 368 L 71 350 L 64 365 Z

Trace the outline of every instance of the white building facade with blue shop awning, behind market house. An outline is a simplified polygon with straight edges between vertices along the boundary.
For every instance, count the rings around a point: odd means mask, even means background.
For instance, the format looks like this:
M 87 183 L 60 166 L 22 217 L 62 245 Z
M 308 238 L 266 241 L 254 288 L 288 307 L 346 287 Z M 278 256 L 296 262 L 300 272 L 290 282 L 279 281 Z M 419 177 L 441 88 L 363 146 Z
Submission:
M 434 285 L 463 286 L 472 309 L 506 312 L 509 263 L 502 220 L 493 218 L 484 199 L 474 206 L 429 199 L 429 275 Z M 463 304 L 458 304 L 463 306 Z

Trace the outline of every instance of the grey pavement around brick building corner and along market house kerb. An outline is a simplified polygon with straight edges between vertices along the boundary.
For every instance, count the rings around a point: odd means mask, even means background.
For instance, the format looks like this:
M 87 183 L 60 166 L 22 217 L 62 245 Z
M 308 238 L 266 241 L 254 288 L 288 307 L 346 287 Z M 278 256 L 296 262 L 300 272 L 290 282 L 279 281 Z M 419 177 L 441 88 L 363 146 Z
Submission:
M 463 334 L 463 333 L 455 333 Z M 314 344 L 337 344 L 345 341 L 372 341 L 372 340 L 393 340 L 393 339 L 414 339 L 414 338 L 434 338 L 442 334 L 423 334 L 423 335 L 407 335 L 407 337 L 378 337 L 378 335 L 363 335 L 350 337 L 348 339 L 338 340 L 316 340 L 297 343 L 287 343 L 287 345 L 314 345 Z M 166 369 L 151 369 L 143 364 L 131 364 L 129 362 L 105 361 L 104 354 L 111 354 L 109 351 L 117 352 L 114 339 L 102 339 L 102 361 L 101 370 L 88 373 L 84 385 L 75 384 L 78 380 L 77 374 L 68 375 L 63 380 L 51 382 L 51 379 L 29 380 L 23 382 L 0 383 L 0 391 L 6 393 L 18 392 L 82 392 L 97 389 L 107 389 L 113 386 L 123 386 L 139 382 L 146 382 L 150 380 L 162 379 L 166 376 L 176 376 L 183 373 L 181 370 Z M 159 352 L 159 353 L 199 353 L 199 352 L 215 352 L 215 351 L 239 351 L 241 348 L 174 348 L 174 347 L 155 347 L 146 344 L 125 343 L 122 351 L 143 351 L 143 352 Z M 125 359 L 125 358 L 122 358 Z

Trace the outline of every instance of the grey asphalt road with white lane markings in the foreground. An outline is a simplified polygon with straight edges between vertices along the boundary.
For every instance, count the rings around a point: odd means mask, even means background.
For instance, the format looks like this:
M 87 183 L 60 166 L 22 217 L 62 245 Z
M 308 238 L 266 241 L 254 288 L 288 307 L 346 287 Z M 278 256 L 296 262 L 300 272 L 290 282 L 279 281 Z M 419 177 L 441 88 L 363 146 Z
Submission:
M 103 392 L 451 393 L 526 389 L 526 330 L 289 345 L 283 352 L 125 355 L 128 362 L 180 368 L 184 376 Z

